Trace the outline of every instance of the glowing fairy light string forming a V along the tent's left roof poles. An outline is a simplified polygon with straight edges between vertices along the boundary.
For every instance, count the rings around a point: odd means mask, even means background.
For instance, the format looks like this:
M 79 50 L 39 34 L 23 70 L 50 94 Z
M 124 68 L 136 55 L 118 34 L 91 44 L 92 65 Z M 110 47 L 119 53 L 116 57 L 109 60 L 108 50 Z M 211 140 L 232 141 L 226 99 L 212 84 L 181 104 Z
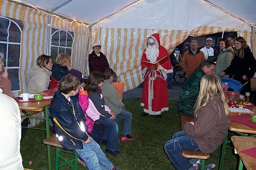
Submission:
M 96 23 L 98 23 L 98 22 L 101 22 L 102 20 L 105 20 L 105 19 L 109 18 L 110 16 L 115 15 L 115 14 L 118 13 L 118 12 L 122 12 L 122 11 L 124 11 L 124 10 L 127 10 L 128 8 L 131 8 L 132 6 L 135 6 L 135 5 L 141 3 L 141 2 L 144 1 L 144 0 L 137 0 L 137 1 L 133 2 L 132 4 L 129 4 L 129 5 L 125 6 L 124 8 L 121 8 L 121 9 L 119 9 L 119 10 L 116 10 L 116 11 L 112 12 L 111 14 L 105 16 L 104 18 L 101 18 L 101 19 L 99 19 L 99 20 L 97 20 L 97 21 L 95 21 L 95 22 L 93 22 L 93 23 L 91 23 L 91 24 L 85 24 L 85 23 L 82 23 L 82 22 L 78 22 L 76 19 L 74 19 L 74 20 L 72 20 L 72 19 L 63 19 L 63 18 L 61 18 L 60 16 L 58 16 L 58 15 L 56 15 L 56 14 L 52 14 L 52 13 L 49 13 L 49 12 L 40 10 L 40 9 L 37 8 L 36 6 L 31 6 L 30 4 L 27 4 L 26 2 L 22 2 L 22 0 L 11 0 L 11 1 L 16 2 L 16 3 L 20 3 L 20 4 L 25 4 L 26 6 L 29 6 L 30 8 L 34 8 L 34 9 L 38 10 L 39 12 L 42 12 L 42 13 L 47 14 L 47 15 L 49 15 L 49 16 L 57 17 L 57 18 L 59 18 L 60 20 L 62 20 L 63 22 L 66 22 L 66 23 L 69 23 L 69 24 L 77 23 L 77 24 L 79 24 L 79 25 L 84 25 L 84 26 L 89 27 L 89 26 L 92 26 L 92 25 L 94 25 L 94 24 L 96 24 Z M 68 21 L 68 20 L 70 20 L 70 21 Z

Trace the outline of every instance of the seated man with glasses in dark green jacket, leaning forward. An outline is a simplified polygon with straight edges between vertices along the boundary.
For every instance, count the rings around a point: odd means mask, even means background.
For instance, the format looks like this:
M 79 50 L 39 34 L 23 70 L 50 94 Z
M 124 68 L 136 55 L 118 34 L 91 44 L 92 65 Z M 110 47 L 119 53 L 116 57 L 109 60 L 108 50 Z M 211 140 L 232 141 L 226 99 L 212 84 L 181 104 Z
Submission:
M 211 60 L 204 60 L 185 81 L 181 87 L 178 99 L 178 112 L 180 115 L 194 116 L 194 105 L 199 94 L 200 79 L 205 74 L 213 74 L 215 63 Z

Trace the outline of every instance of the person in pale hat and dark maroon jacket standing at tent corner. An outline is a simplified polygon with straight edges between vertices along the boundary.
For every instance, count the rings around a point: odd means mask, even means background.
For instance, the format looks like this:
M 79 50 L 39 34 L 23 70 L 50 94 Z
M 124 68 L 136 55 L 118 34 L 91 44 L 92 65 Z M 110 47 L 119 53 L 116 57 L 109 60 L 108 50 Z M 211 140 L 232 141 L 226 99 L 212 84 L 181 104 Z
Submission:
M 102 72 L 103 68 L 109 67 L 107 57 L 101 52 L 101 44 L 96 42 L 93 44 L 93 52 L 89 54 L 89 71 Z

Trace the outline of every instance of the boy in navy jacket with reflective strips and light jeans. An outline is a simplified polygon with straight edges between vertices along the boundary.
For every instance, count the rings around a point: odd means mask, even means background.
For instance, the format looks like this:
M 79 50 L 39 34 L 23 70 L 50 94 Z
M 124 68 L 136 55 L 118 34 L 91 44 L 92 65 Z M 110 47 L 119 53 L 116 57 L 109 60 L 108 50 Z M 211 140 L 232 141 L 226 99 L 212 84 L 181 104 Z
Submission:
M 66 75 L 60 80 L 58 91 L 50 105 L 56 136 L 65 150 L 75 150 L 89 170 L 115 170 L 99 144 L 87 134 L 85 117 L 78 101 L 80 80 Z

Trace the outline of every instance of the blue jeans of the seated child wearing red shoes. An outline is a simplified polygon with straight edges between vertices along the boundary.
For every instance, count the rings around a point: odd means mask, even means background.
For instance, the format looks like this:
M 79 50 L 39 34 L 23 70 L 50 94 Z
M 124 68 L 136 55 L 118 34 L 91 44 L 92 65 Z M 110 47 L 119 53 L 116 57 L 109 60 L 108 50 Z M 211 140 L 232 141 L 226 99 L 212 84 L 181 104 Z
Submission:
M 127 134 L 131 134 L 132 128 L 131 128 L 131 120 L 132 115 L 129 111 L 122 109 L 122 111 L 116 115 L 115 122 L 117 125 L 121 123 L 123 119 L 123 128 L 122 128 L 122 135 L 126 136 Z

